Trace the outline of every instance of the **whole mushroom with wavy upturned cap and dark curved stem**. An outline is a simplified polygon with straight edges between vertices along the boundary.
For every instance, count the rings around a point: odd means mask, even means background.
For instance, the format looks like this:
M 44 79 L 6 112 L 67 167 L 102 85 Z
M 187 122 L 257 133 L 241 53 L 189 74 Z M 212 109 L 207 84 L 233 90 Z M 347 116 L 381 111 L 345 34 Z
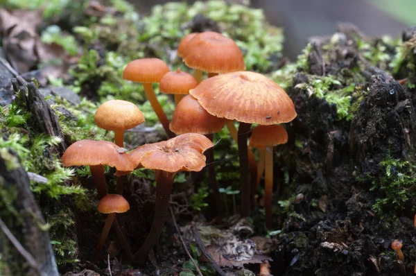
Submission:
M 202 153 L 214 146 L 204 135 L 187 133 L 155 144 L 145 144 L 130 152 L 136 167 L 153 169 L 156 180 L 155 218 L 150 233 L 134 260 L 145 261 L 155 245 L 168 211 L 173 178 L 178 171 L 200 171 L 205 166 Z

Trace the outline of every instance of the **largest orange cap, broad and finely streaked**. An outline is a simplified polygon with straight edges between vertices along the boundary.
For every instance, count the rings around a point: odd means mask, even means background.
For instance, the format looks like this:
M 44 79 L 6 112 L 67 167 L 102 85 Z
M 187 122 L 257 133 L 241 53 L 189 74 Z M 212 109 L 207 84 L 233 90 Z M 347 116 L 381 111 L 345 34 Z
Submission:
M 210 114 L 244 123 L 272 125 L 297 116 L 291 98 L 265 76 L 239 71 L 207 78 L 189 91 Z

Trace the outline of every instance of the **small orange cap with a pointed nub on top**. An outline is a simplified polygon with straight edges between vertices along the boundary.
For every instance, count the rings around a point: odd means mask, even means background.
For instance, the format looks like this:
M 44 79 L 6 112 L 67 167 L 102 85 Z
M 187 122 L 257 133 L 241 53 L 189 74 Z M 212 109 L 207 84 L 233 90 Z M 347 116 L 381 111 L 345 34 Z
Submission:
M 189 94 L 189 90 L 198 85 L 196 79 L 187 72 L 178 68 L 176 71 L 166 73 L 159 83 L 159 90 L 165 94 Z

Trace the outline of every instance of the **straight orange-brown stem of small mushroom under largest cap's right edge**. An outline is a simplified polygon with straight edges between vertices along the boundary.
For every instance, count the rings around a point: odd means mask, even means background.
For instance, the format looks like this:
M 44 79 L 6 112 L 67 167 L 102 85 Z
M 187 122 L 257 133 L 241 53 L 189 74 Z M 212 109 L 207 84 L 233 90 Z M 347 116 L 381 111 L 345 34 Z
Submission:
M 273 192 L 273 146 L 265 148 L 264 207 L 266 209 L 266 227 L 272 229 L 272 192 Z

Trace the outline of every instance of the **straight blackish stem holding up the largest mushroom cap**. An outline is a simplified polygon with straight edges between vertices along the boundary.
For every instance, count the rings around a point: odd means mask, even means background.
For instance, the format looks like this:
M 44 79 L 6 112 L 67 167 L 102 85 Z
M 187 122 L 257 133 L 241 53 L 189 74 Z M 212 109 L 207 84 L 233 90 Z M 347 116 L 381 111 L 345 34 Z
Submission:
M 250 216 L 250 179 L 248 165 L 248 145 L 247 138 L 251 123 L 240 122 L 239 126 L 239 159 L 240 159 L 240 182 L 241 182 L 241 216 Z M 256 170 L 257 172 L 257 170 Z

